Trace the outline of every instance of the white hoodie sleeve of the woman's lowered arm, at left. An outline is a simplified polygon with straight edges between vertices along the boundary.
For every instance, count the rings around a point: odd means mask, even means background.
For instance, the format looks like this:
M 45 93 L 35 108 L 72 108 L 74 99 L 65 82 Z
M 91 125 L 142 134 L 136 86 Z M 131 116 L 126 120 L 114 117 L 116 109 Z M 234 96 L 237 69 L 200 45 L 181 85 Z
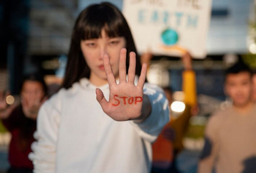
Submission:
M 59 95 L 59 94 L 58 94 Z M 58 95 L 52 96 L 41 107 L 37 117 L 32 153 L 33 172 L 55 172 L 56 143 L 60 121 L 60 101 Z

